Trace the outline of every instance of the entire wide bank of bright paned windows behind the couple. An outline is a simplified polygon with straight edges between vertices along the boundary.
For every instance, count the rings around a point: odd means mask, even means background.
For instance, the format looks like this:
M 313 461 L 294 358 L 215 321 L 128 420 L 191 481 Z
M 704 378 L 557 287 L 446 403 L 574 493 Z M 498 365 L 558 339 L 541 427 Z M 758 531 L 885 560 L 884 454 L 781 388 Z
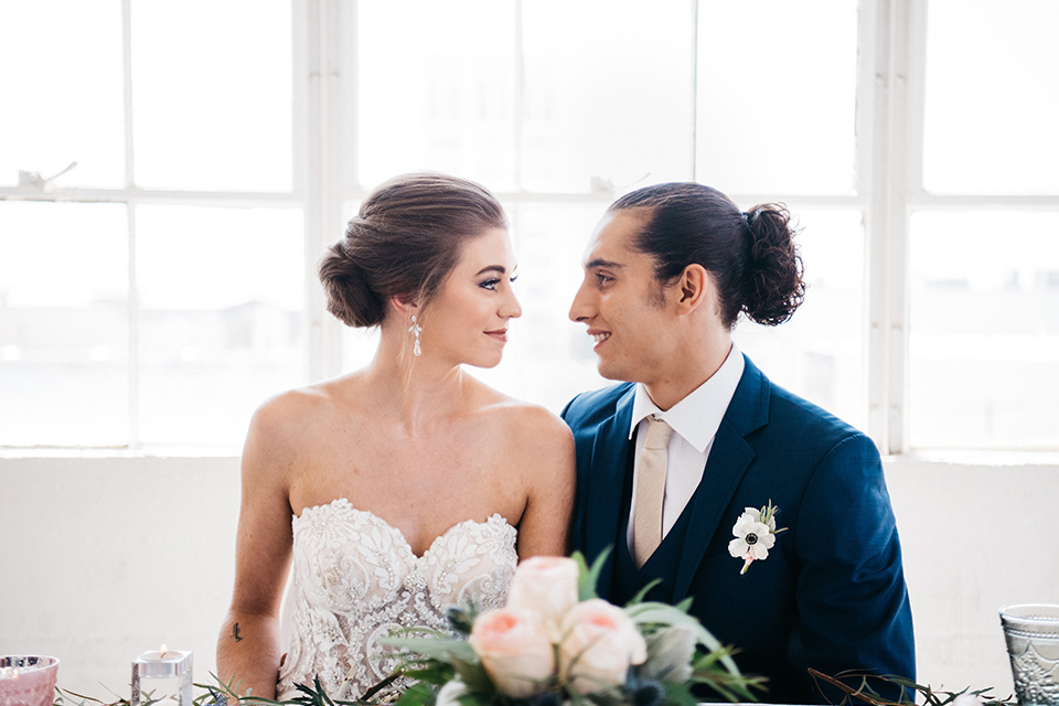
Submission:
M 507 208 L 524 315 L 481 374 L 512 394 L 607 384 L 566 319 L 584 245 L 624 191 L 697 180 L 802 226 L 805 304 L 734 334 L 777 383 L 885 452 L 1055 449 L 1057 13 L 3 3 L 0 446 L 237 448 L 268 394 L 370 357 L 315 260 L 378 182 L 435 169 Z

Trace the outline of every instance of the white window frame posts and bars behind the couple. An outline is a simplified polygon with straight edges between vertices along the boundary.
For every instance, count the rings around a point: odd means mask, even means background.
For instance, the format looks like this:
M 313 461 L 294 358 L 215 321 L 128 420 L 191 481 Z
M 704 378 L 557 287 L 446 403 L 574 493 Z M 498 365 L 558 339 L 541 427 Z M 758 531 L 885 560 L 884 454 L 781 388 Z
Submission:
M 523 0 L 515 0 L 521 18 Z M 688 0 L 689 21 L 697 28 L 699 0 Z M 928 0 L 860 0 L 857 86 L 857 172 L 852 195 L 730 194 L 737 202 L 787 199 L 802 208 L 859 211 L 865 220 L 866 325 L 865 398 L 867 432 L 884 454 L 910 451 L 908 429 L 908 250 L 909 217 L 917 210 L 1034 208 L 1059 210 L 1059 194 L 934 195 L 924 191 L 923 106 Z M 136 286 L 136 210 L 143 204 L 299 207 L 304 213 L 306 356 L 310 379 L 342 372 L 342 325 L 327 314 L 317 282 L 315 263 L 341 233 L 344 204 L 366 195 L 359 185 L 354 150 L 357 96 L 347 95 L 340 47 L 355 41 L 356 0 L 295 0 L 293 31 L 293 186 L 288 193 L 154 191 L 132 183 L 131 0 L 122 0 L 125 52 L 125 143 L 127 183 L 124 189 L 63 189 L 50 193 L 31 185 L 0 189 L 0 199 L 63 202 L 109 202 L 128 208 L 130 366 L 130 449 L 140 448 L 138 432 L 138 331 Z M 521 21 L 516 21 L 516 55 L 521 56 Z M 692 54 L 695 61 L 695 52 Z M 521 72 L 520 72 L 521 73 Z M 693 84 L 695 90 L 694 67 Z M 521 86 L 516 86 L 516 96 Z M 517 98 L 516 98 L 517 99 Z M 697 108 L 697 105 L 696 105 Z M 515 114 L 521 135 L 522 111 Z M 695 130 L 693 115 L 689 129 Z M 694 179 L 694 150 L 689 157 Z M 498 193 L 506 204 L 582 204 L 605 208 L 609 193 Z M 842 325 L 842 322 L 836 322 Z

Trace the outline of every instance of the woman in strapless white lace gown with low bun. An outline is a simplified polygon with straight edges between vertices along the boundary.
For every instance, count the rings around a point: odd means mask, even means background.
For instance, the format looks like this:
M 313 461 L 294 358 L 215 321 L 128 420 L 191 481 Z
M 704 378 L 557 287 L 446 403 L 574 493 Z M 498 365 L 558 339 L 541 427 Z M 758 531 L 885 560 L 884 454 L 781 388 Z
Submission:
M 357 698 L 394 666 L 381 638 L 500 606 L 520 558 L 566 554 L 567 426 L 463 370 L 500 363 L 522 312 L 514 269 L 495 197 L 432 173 L 379 186 L 321 261 L 328 309 L 378 327 L 378 350 L 250 421 L 217 643 L 240 693 L 289 698 L 319 675 Z

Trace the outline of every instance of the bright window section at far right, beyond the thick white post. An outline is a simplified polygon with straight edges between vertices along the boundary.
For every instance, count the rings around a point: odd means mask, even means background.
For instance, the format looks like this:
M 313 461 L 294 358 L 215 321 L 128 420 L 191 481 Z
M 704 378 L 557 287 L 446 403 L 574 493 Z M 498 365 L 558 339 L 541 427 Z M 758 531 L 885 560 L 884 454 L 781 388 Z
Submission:
M 1059 447 L 1059 6 L 931 0 L 908 229 L 916 447 Z

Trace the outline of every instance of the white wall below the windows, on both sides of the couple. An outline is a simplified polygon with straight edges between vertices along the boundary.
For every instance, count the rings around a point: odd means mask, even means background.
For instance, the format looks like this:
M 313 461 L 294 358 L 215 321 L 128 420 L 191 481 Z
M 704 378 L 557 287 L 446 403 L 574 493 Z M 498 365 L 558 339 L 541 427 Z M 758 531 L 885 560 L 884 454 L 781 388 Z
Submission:
M 1007 696 L 997 608 L 1059 603 L 1059 463 L 886 463 L 920 681 Z M 108 699 L 164 642 L 207 681 L 237 511 L 234 458 L 0 459 L 0 654 L 57 656 L 60 686 Z

